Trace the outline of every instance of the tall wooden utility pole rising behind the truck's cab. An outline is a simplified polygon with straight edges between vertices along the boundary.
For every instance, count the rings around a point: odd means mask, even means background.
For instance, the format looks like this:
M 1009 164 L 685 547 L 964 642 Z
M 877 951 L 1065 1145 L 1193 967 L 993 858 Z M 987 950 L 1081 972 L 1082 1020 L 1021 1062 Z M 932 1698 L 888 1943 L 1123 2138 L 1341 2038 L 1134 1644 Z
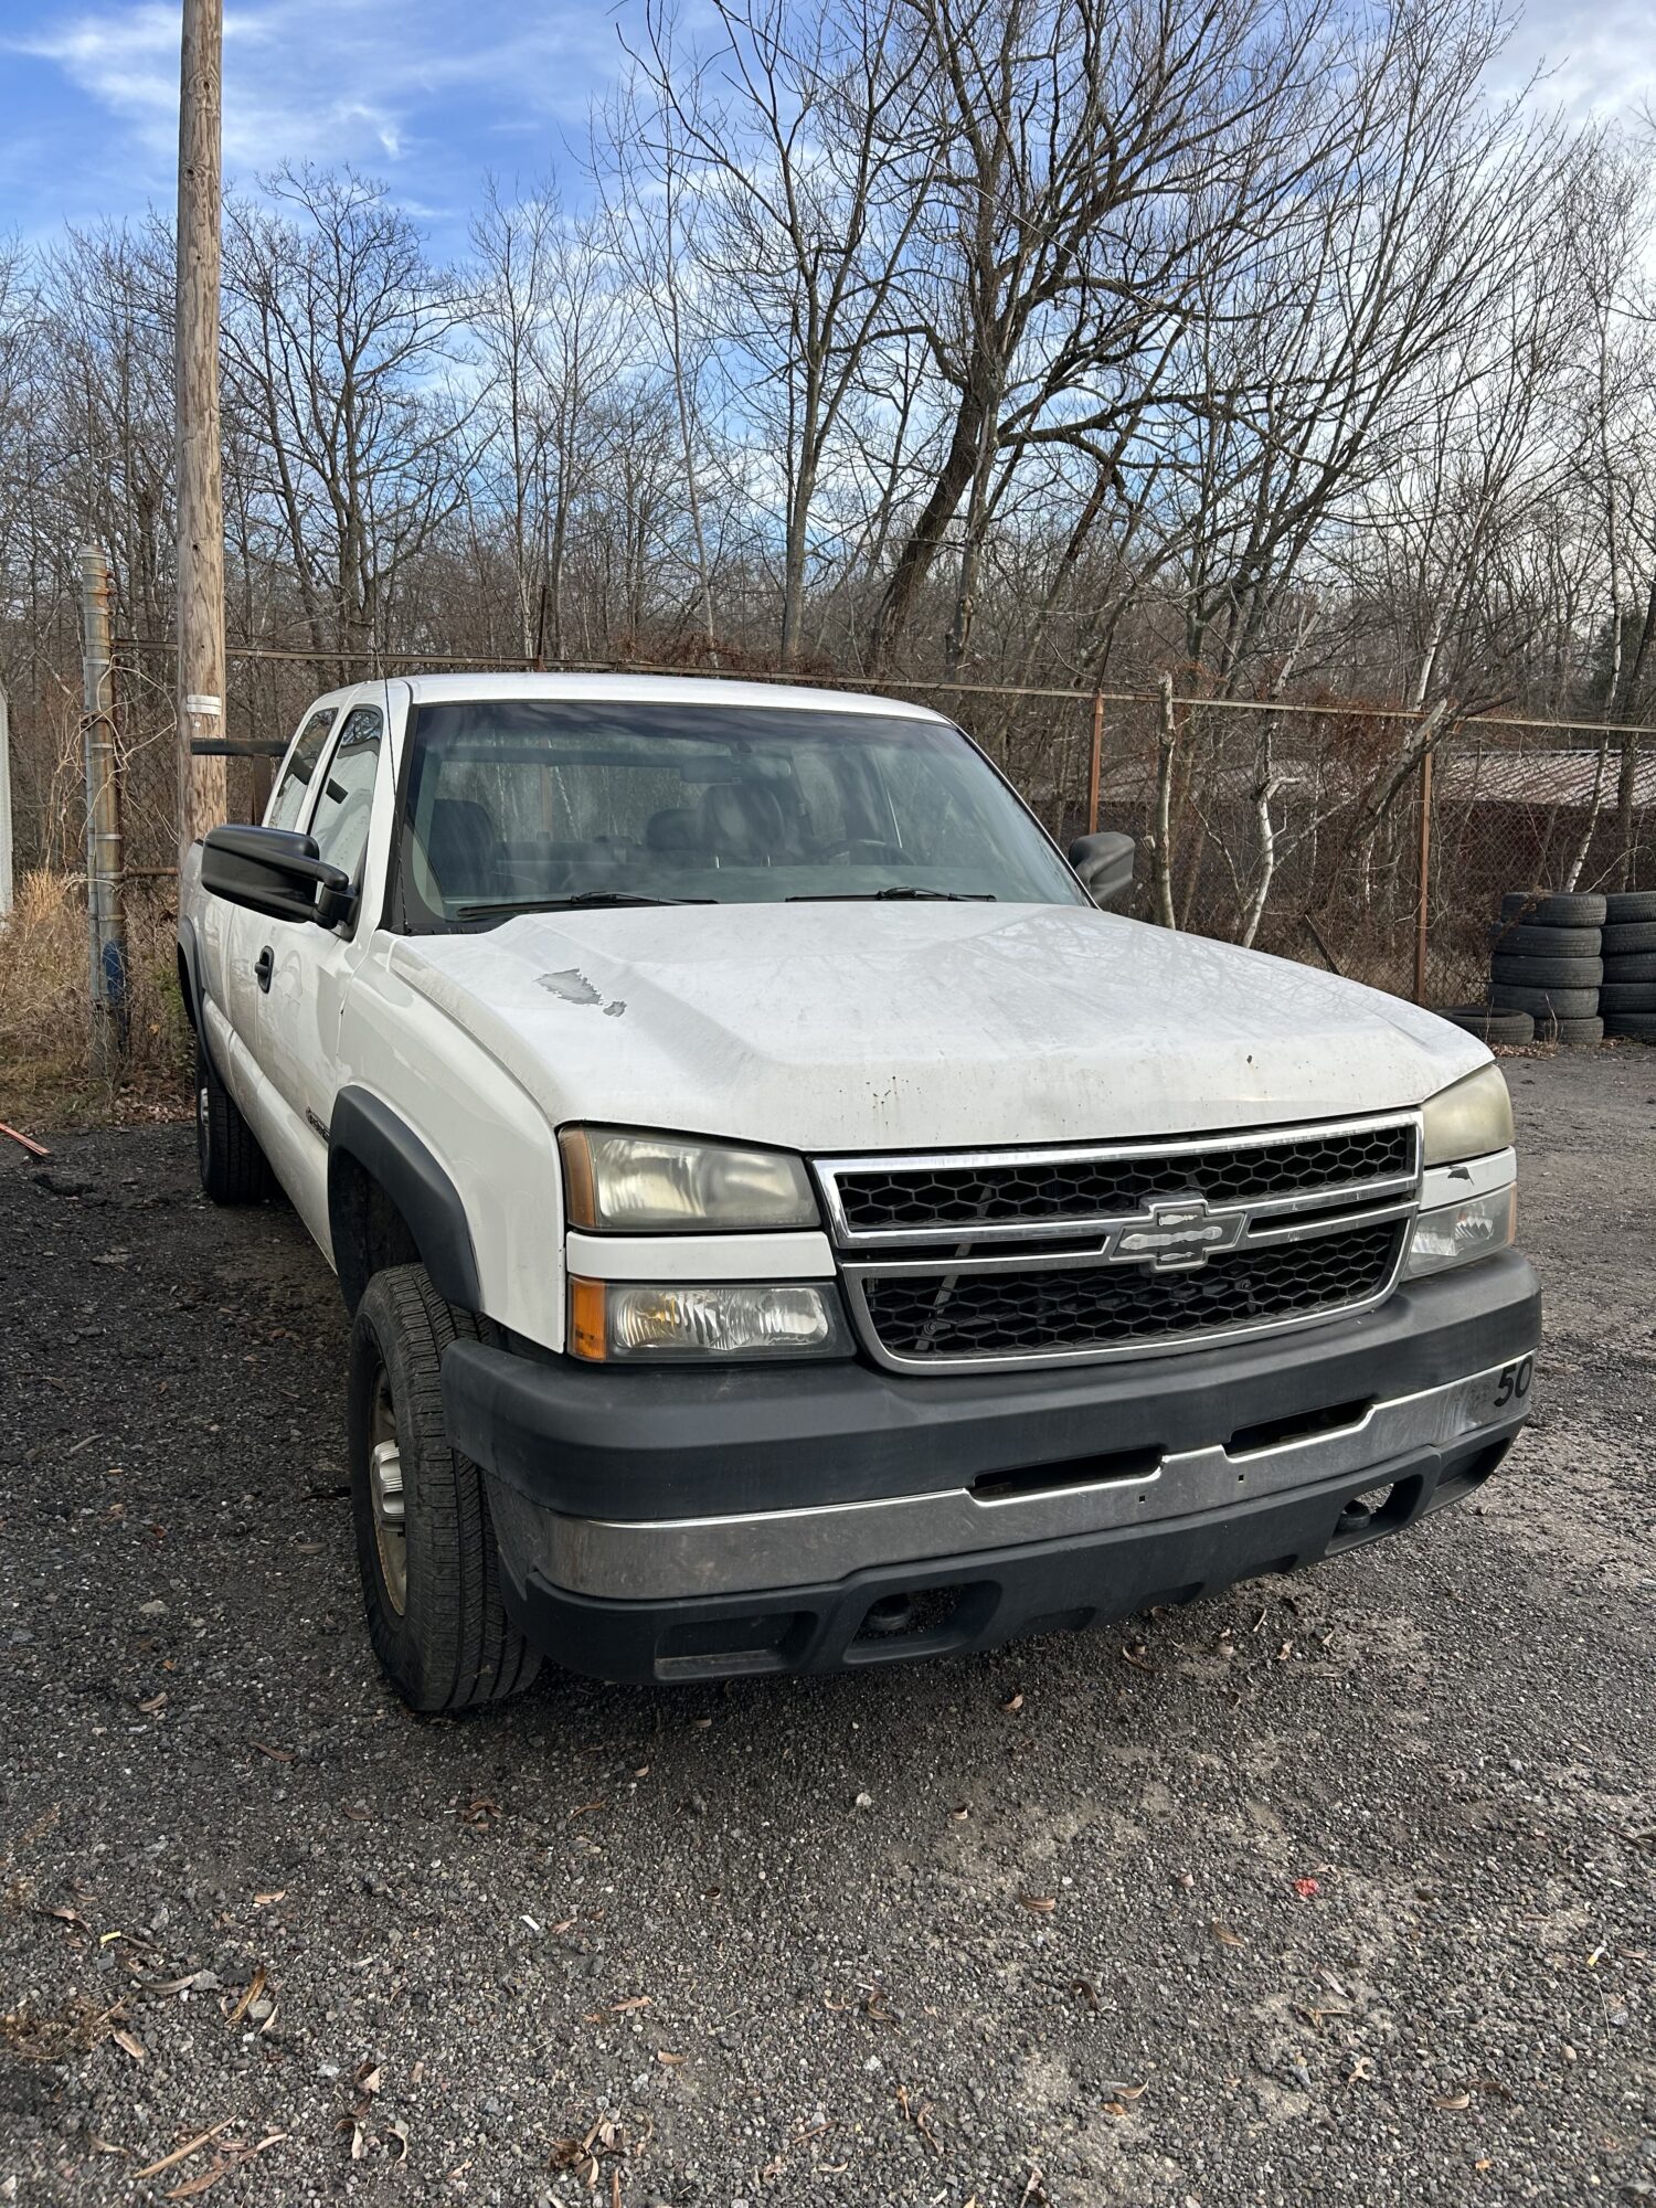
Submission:
M 225 510 L 219 453 L 219 197 L 223 0 L 183 0 L 174 406 L 179 470 L 179 866 L 227 810 Z

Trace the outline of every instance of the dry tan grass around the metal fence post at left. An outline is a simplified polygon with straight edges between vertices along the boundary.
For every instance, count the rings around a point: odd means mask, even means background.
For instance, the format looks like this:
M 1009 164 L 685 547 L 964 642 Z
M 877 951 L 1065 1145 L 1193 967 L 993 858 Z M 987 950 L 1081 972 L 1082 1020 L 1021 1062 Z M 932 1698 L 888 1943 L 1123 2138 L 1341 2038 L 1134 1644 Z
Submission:
M 93 1066 L 86 885 L 31 872 L 0 923 L 0 1119 L 38 1130 L 135 1119 L 188 1104 L 170 890 L 128 892 L 128 1049 L 115 1082 Z

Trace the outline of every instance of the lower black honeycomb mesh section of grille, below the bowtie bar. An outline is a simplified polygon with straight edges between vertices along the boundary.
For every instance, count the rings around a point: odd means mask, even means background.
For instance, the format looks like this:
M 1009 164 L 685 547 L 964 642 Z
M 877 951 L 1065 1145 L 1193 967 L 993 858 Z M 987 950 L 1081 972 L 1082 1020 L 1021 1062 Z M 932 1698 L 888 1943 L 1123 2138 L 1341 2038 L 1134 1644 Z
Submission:
M 1201 1272 L 1091 1265 L 868 1276 L 863 1307 L 879 1345 L 903 1360 L 1175 1345 L 1369 1303 L 1391 1283 L 1402 1234 L 1400 1223 L 1387 1221 L 1239 1250 Z

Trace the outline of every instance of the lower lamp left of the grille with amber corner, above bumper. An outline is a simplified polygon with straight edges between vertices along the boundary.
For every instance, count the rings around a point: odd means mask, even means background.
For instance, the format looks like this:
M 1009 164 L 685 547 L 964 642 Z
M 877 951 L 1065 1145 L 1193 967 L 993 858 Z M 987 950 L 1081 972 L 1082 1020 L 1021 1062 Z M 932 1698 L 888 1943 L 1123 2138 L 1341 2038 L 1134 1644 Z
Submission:
M 848 1358 L 828 1283 L 570 1281 L 570 1354 L 612 1358 Z

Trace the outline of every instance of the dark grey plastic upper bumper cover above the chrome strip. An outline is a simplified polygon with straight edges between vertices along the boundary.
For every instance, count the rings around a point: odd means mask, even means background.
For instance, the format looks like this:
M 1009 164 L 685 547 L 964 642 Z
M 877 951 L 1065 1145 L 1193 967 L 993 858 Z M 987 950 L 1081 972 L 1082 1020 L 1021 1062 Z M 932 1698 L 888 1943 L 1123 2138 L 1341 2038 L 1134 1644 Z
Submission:
M 1305 1334 L 1040 1373 L 698 1373 L 455 1342 L 444 1415 L 457 1448 L 539 1508 L 711 1517 L 925 1495 L 1102 1451 L 1206 1448 L 1325 1404 L 1442 1387 L 1539 1340 L 1535 1272 L 1504 1252 Z

